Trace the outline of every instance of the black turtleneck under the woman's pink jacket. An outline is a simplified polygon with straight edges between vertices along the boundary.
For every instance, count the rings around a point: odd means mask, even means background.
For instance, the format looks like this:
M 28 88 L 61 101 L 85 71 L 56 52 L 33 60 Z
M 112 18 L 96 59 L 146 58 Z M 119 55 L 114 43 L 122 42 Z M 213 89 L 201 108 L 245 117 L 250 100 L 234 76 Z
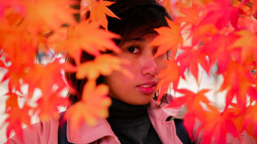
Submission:
M 161 143 L 153 128 L 146 108 L 148 105 L 130 105 L 112 98 L 107 121 L 121 144 Z

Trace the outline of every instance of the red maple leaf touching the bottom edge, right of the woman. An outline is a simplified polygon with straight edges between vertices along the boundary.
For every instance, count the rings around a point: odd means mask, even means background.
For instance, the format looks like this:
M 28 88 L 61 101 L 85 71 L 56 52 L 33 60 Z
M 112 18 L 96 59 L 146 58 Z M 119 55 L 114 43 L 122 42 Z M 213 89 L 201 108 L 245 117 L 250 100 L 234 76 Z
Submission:
M 201 143 L 210 143 L 212 138 L 215 143 L 226 143 L 226 134 L 229 132 L 234 137 L 238 135 L 235 124 L 231 120 L 234 117 L 228 109 L 220 113 L 215 107 L 208 105 L 208 111 L 205 112 L 206 121 L 199 127 L 197 133 L 203 131 L 203 141 Z

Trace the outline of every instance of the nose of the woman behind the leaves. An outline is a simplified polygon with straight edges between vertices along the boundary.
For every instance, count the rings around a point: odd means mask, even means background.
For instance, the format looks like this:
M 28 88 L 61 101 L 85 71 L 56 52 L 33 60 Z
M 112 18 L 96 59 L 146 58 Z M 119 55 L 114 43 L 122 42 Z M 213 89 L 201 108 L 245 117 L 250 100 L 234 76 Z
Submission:
M 158 67 L 152 54 L 145 55 L 142 60 L 142 74 L 156 76 Z

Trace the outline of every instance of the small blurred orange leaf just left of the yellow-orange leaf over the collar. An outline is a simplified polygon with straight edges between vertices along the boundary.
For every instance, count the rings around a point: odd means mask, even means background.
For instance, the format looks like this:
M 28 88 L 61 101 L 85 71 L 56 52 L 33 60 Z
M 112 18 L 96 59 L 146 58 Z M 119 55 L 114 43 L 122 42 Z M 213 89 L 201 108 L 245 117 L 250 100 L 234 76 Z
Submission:
M 42 121 L 49 121 L 50 117 L 59 118 L 58 106 L 66 107 L 69 104 L 68 98 L 61 96 L 60 92 L 51 95 L 43 95 L 38 101 L 39 117 Z

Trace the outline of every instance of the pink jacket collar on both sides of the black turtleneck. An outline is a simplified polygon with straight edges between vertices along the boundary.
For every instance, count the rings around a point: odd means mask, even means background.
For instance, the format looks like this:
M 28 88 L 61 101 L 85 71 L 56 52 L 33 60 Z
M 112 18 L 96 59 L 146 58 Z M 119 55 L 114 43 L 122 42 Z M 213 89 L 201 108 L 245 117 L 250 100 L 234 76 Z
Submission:
M 172 109 L 167 111 L 163 108 L 156 108 L 155 100 L 152 100 L 150 107 L 148 107 L 148 113 L 152 123 L 156 120 L 160 120 L 160 122 L 166 121 L 168 117 L 175 116 L 177 112 L 177 110 Z M 94 127 L 88 126 L 83 122 L 77 130 L 71 129 L 70 121 L 67 119 L 67 140 L 71 143 L 91 143 L 105 136 L 111 136 L 116 139 L 117 143 L 120 143 L 106 119 L 99 119 Z

